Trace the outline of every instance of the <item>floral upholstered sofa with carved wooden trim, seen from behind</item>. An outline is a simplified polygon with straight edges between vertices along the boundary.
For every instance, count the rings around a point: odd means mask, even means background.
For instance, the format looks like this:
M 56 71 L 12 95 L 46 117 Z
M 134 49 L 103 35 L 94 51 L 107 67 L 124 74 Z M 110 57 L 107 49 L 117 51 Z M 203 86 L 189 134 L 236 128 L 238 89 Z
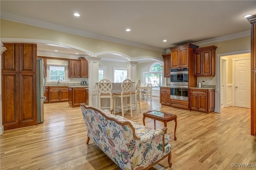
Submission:
M 166 127 L 151 129 L 130 121 L 109 110 L 80 104 L 90 139 L 122 170 L 149 169 L 168 156 L 171 167 L 171 149 Z

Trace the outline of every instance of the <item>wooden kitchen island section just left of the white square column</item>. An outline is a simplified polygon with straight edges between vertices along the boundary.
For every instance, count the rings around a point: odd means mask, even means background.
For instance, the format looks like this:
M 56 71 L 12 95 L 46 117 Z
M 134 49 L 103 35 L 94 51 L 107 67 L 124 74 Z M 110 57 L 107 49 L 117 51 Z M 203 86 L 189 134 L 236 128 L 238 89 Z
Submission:
M 70 107 L 79 107 L 81 103 L 89 104 L 88 85 L 68 86 L 68 104 Z

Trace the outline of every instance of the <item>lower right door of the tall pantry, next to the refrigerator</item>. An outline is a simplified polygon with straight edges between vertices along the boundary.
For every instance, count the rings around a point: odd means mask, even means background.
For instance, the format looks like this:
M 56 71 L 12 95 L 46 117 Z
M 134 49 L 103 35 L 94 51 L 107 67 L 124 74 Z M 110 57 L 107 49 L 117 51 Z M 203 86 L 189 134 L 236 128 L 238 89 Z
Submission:
M 35 74 L 20 74 L 20 124 L 37 125 Z M 24 127 L 26 125 L 21 125 Z

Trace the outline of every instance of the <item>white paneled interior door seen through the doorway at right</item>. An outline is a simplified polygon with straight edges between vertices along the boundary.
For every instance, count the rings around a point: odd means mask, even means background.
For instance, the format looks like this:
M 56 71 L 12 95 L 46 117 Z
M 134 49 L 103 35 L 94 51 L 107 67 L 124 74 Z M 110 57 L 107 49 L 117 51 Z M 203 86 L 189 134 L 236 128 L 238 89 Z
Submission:
M 250 59 L 235 62 L 235 106 L 250 108 Z

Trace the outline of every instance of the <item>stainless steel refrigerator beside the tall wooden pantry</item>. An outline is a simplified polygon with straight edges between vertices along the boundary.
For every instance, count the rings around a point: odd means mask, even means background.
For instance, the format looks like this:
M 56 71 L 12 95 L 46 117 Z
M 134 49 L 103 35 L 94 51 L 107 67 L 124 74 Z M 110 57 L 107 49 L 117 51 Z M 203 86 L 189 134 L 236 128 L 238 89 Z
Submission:
M 37 123 L 41 123 L 44 121 L 44 101 L 46 97 L 44 97 L 45 90 L 45 68 L 43 59 L 37 59 Z

